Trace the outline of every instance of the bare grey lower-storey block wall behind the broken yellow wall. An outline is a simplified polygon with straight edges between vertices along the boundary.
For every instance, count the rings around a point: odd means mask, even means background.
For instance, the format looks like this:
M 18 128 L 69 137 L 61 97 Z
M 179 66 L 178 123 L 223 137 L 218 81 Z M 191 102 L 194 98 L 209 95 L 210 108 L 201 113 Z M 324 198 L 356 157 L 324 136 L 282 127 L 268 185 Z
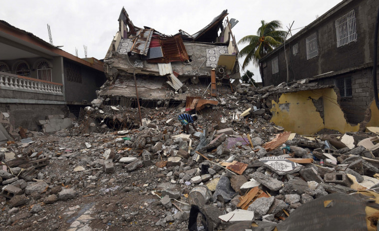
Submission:
M 363 121 L 366 109 L 373 99 L 372 68 L 366 68 L 334 77 L 319 79 L 322 85 L 334 84 L 335 79 L 351 77 L 351 97 L 340 97 L 340 106 L 347 122 L 357 124 Z

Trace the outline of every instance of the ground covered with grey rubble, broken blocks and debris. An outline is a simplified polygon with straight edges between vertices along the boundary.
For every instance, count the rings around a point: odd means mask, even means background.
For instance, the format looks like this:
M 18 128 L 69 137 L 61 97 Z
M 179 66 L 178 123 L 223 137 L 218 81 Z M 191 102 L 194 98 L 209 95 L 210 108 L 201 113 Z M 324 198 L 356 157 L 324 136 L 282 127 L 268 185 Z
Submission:
M 0 229 L 187 230 L 189 204 L 215 230 L 242 207 L 281 223 L 324 195 L 377 187 L 378 149 L 357 146 L 376 134 L 291 135 L 268 122 L 262 95 L 275 90 L 207 96 L 219 104 L 197 112 L 201 134 L 182 134 L 181 107 L 142 108 L 140 127 L 136 108 L 98 99 L 70 129 L 0 145 Z M 212 195 L 191 192 L 199 185 Z

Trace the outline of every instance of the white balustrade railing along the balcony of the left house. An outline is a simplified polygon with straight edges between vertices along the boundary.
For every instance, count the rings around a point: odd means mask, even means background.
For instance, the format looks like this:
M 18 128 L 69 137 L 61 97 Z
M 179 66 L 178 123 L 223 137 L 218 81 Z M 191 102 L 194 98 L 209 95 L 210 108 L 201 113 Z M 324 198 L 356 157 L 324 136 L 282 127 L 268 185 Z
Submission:
M 63 84 L 0 72 L 0 89 L 63 94 Z

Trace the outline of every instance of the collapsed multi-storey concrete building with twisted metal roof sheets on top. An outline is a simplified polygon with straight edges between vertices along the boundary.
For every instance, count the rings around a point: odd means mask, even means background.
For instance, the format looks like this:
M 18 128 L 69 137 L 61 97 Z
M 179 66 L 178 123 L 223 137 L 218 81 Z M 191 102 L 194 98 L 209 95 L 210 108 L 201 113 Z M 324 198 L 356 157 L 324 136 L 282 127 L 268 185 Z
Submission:
M 216 91 L 232 92 L 240 78 L 231 30 L 238 20 L 227 15 L 222 11 L 192 35 L 181 29 L 166 35 L 135 26 L 123 8 L 119 31 L 104 59 L 107 82 L 99 96 L 109 98 L 109 104 L 135 107 L 138 91 L 141 105 L 156 107 L 158 101 L 161 106 L 185 101 L 190 94 L 181 93 L 189 84 L 208 86 L 212 96 Z

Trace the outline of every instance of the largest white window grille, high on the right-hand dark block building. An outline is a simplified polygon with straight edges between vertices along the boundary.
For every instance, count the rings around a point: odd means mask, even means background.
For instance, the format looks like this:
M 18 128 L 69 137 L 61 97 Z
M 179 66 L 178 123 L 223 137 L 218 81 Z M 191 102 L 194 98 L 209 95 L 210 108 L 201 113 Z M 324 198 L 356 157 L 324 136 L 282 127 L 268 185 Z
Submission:
M 337 47 L 356 41 L 354 10 L 335 20 L 335 31 L 337 33 Z

